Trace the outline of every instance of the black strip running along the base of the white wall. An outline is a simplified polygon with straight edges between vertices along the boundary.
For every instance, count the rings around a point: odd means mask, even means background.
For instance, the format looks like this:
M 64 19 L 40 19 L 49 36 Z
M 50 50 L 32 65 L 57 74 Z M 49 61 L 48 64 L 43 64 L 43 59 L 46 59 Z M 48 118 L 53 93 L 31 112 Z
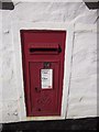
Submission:
M 62 121 L 30 121 L 3 124 L 2 132 L 47 132 L 47 130 L 94 130 L 97 131 L 99 118 L 67 119 Z

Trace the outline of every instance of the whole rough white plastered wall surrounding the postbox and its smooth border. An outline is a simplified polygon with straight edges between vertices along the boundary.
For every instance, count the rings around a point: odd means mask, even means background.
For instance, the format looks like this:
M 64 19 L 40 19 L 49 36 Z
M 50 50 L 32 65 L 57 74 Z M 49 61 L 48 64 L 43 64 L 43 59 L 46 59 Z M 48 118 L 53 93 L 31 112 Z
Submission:
M 84 2 L 14 2 L 12 11 L 0 10 L 0 122 L 20 121 L 21 98 L 18 92 L 12 22 L 81 23 L 74 31 L 73 63 L 67 118 L 97 116 L 97 10 Z M 2 16 L 1 16 L 2 14 Z M 2 20 L 1 20 L 2 18 Z M 1 25 L 2 24 L 2 25 Z M 82 29 L 82 25 L 87 25 Z M 2 31 L 2 33 L 1 33 Z

